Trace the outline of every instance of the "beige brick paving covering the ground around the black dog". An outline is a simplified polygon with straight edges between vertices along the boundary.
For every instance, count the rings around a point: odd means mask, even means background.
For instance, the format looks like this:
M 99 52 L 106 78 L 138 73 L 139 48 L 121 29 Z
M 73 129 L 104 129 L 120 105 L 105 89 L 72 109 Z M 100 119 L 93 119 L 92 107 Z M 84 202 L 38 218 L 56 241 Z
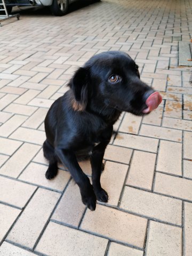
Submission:
M 189 0 L 103 0 L 65 17 L 21 15 L 0 28 L 0 255 L 190 256 L 192 89 L 178 67 Z M 63 166 L 45 179 L 44 117 L 93 54 L 121 50 L 163 102 L 123 113 L 105 154 L 109 202 L 81 202 Z M 90 175 L 89 162 L 80 163 Z

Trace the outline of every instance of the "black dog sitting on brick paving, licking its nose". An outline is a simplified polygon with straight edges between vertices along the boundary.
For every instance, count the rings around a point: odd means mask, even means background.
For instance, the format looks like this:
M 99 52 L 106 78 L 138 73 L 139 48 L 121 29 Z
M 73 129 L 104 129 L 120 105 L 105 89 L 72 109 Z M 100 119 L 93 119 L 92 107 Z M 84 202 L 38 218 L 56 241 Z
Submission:
M 79 68 L 70 89 L 49 109 L 45 118 L 44 156 L 49 160 L 46 178 L 57 175 L 61 161 L 79 186 L 82 201 L 95 210 L 96 201 L 107 202 L 100 175 L 113 124 L 122 111 L 143 115 L 162 98 L 141 82 L 138 66 L 124 52 L 103 52 Z M 90 156 L 92 185 L 77 160 Z

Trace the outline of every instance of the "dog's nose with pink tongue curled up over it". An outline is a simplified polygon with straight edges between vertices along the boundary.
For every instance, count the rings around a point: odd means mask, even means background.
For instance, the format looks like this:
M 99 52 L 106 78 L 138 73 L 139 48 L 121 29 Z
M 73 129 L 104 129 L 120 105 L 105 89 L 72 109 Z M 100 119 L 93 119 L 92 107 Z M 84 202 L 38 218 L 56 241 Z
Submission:
M 158 105 L 162 102 L 162 96 L 158 92 L 150 90 L 144 94 L 144 100 L 147 108 L 142 112 L 147 114 L 158 107 Z

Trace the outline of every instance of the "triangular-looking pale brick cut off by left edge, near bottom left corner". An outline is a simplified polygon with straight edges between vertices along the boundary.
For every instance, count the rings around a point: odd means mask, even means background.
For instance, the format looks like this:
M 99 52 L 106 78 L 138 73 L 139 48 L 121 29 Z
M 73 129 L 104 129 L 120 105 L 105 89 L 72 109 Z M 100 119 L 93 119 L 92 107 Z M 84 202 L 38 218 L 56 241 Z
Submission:
M 11 228 L 11 225 L 17 219 L 21 210 L 15 209 L 13 207 L 0 204 L 0 242 L 6 235 L 7 231 Z M 1 247 L 0 247 L 0 254 L 1 254 Z

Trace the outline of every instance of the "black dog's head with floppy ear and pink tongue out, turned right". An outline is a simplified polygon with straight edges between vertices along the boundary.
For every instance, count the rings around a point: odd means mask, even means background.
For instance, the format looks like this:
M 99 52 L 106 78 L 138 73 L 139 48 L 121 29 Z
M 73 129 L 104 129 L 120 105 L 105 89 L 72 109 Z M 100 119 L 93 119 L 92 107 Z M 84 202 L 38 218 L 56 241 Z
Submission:
M 97 105 L 135 115 L 150 113 L 162 97 L 140 80 L 138 66 L 131 57 L 119 51 L 94 55 L 71 79 L 73 107 L 83 111 Z

